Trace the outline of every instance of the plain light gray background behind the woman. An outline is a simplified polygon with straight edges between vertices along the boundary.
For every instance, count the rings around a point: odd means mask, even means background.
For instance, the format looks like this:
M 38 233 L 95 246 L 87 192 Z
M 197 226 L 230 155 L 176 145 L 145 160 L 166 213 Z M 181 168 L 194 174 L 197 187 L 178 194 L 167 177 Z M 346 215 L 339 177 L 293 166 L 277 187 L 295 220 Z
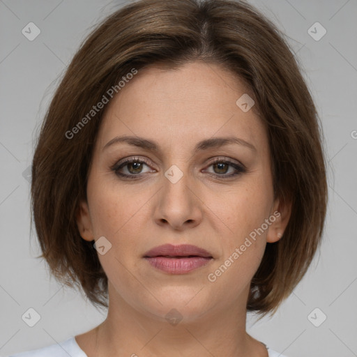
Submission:
M 255 324 L 249 314 L 248 332 L 289 357 L 357 356 L 357 1 L 251 2 L 289 36 L 305 70 L 326 138 L 330 198 L 324 241 L 305 278 L 273 318 Z M 59 77 L 91 26 L 119 3 L 0 0 L 1 356 L 61 342 L 105 319 L 35 259 L 26 169 Z M 41 31 L 33 41 L 22 34 L 29 22 Z M 307 33 L 315 22 L 327 30 L 318 41 Z M 33 327 L 22 320 L 30 307 L 41 317 Z M 310 315 L 316 307 L 321 312 Z M 323 313 L 326 321 L 314 326 Z

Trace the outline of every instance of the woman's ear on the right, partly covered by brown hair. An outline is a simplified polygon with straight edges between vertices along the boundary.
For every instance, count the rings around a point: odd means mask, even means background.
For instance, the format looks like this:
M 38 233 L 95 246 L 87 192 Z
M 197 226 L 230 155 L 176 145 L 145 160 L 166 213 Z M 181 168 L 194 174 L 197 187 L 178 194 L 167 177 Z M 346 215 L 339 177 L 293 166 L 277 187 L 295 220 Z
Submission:
M 272 222 L 266 235 L 267 243 L 275 243 L 284 236 L 285 228 L 291 215 L 291 200 L 275 199 L 273 202 L 273 208 L 271 210 L 271 216 L 275 216 L 275 221 Z

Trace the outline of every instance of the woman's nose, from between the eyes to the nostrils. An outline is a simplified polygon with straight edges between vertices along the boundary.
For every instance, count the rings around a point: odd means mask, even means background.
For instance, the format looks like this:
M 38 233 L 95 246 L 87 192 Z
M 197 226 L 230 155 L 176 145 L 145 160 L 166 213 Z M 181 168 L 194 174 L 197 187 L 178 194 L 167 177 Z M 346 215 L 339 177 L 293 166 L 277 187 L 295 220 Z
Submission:
M 164 176 L 158 195 L 155 208 L 155 222 L 158 225 L 183 231 L 202 222 L 202 199 L 187 173 L 177 182 Z

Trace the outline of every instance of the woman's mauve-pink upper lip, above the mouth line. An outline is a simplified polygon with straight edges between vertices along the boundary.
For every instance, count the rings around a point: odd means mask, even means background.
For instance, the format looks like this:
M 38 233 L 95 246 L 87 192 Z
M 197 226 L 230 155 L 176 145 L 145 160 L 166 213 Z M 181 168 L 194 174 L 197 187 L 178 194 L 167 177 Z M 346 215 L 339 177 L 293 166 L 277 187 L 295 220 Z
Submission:
M 149 250 L 149 252 L 146 252 L 144 257 L 159 257 L 159 256 L 187 257 L 189 255 L 212 258 L 211 253 L 207 252 L 203 248 L 199 248 L 199 247 L 196 247 L 195 245 L 190 245 L 190 244 L 160 245 L 158 247 L 155 247 L 155 248 Z

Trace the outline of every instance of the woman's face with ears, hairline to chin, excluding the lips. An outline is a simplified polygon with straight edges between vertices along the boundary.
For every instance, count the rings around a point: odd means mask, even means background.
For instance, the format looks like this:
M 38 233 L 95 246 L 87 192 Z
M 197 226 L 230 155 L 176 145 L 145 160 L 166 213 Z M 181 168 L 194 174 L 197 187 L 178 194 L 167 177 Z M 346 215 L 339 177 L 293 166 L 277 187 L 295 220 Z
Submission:
M 236 104 L 245 93 L 231 73 L 194 62 L 139 70 L 107 104 L 77 222 L 84 239 L 105 237 L 98 258 L 111 304 L 157 319 L 172 309 L 186 319 L 245 309 L 266 243 L 284 228 L 266 130 L 248 110 L 252 102 L 244 105 L 247 96 Z M 136 142 L 106 146 L 124 136 Z M 218 145 L 222 138 L 237 141 Z M 196 245 L 212 259 L 198 259 L 206 265 L 192 271 L 162 271 L 144 256 L 167 243 Z

